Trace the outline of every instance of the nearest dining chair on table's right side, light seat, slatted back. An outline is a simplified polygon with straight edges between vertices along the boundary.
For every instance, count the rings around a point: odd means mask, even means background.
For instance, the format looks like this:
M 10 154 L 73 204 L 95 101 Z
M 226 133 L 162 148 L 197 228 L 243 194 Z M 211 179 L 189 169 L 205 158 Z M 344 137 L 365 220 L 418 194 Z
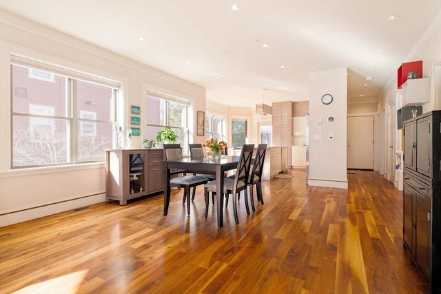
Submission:
M 238 213 L 237 213 L 237 200 L 236 195 L 240 194 L 240 191 L 245 191 L 245 208 L 247 209 L 247 214 L 249 214 L 248 198 L 247 198 L 247 179 L 249 176 L 249 168 L 251 166 L 253 157 L 254 144 L 243 145 L 242 151 L 240 152 L 240 158 L 238 161 L 236 175 L 234 178 L 225 178 L 223 182 L 224 192 L 227 194 L 232 194 L 233 202 L 233 212 L 234 220 L 236 224 L 239 223 Z M 205 184 L 204 189 L 205 194 L 205 218 L 208 216 L 208 206 L 209 206 L 209 192 L 216 193 L 216 180 L 208 182 Z M 218 196 L 223 197 L 223 196 Z

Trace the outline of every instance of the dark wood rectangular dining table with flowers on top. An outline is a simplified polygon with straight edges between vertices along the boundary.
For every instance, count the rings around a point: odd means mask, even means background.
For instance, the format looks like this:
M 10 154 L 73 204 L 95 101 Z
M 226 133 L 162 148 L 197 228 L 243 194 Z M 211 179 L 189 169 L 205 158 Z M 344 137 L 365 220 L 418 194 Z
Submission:
M 218 227 L 223 226 L 223 181 L 225 171 L 237 168 L 240 156 L 222 156 L 220 159 L 183 158 L 164 161 L 164 216 L 170 204 L 170 169 L 185 169 L 188 173 L 216 174 L 216 211 Z

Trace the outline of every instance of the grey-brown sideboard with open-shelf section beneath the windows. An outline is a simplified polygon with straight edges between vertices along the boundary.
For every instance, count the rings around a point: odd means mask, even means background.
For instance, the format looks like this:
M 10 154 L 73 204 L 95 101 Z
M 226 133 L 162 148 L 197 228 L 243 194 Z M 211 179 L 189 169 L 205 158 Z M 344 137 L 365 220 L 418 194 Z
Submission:
M 106 151 L 105 200 L 127 200 L 163 190 L 163 149 Z

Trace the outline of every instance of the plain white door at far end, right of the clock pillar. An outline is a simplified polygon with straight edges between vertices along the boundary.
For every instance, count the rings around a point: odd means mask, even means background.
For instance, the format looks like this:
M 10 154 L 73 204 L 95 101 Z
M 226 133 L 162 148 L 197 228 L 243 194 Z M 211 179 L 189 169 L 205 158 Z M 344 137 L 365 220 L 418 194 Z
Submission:
M 347 168 L 373 169 L 373 116 L 347 118 Z

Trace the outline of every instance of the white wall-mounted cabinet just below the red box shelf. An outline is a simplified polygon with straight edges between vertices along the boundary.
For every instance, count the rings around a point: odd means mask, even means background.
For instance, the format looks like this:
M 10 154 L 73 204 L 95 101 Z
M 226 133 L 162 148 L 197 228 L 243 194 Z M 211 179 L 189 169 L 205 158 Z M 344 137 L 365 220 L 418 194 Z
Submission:
M 430 101 L 429 78 L 414 78 L 402 84 L 402 107 L 422 105 Z

